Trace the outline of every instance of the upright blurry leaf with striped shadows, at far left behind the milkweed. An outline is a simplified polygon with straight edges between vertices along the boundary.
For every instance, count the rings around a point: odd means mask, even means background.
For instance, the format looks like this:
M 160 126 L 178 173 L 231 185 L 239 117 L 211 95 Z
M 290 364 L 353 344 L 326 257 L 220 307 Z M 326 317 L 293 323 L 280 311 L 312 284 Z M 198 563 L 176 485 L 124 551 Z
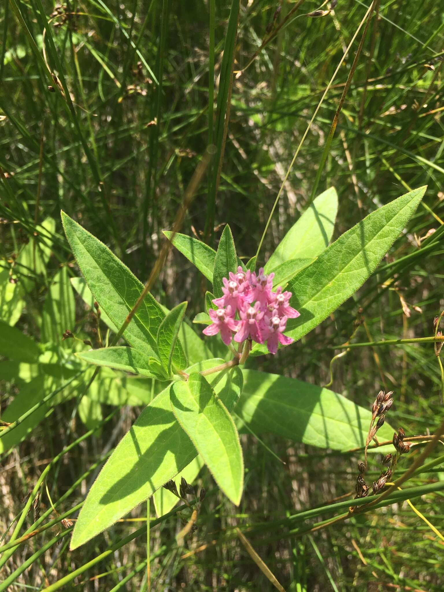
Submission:
M 75 301 L 66 267 L 54 276 L 41 313 L 41 340 L 60 345 L 66 329 L 75 325 Z M 69 342 L 64 342 L 70 347 Z

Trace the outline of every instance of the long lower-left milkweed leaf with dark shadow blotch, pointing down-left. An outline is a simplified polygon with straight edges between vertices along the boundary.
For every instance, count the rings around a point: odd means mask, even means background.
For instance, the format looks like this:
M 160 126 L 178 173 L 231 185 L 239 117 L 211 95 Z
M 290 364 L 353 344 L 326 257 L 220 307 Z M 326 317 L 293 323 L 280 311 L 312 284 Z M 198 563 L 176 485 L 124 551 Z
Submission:
M 189 371 L 214 368 L 222 362 L 207 360 Z M 239 368 L 208 378 L 221 401 L 232 409 L 242 389 Z M 194 445 L 173 415 L 167 387 L 142 411 L 102 468 L 79 514 L 71 548 L 83 545 L 152 496 L 195 456 Z

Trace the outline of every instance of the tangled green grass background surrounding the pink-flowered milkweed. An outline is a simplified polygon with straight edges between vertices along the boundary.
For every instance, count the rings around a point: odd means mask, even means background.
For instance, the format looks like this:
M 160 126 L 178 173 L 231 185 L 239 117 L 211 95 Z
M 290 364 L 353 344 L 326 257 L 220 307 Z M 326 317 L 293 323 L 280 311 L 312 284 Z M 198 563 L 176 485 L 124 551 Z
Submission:
M 230 2 L 216 2 L 214 46 L 209 39 L 209 5 L 203 0 L 73 0 L 60 9 L 69 14 L 56 18 L 50 17 L 52 2 L 44 1 L 42 6 L 40 0 L 27 0 L 17 6 L 22 23 L 12 4 L 3 3 L 0 9 L 0 165 L 4 172 L 0 255 L 14 280 L 32 280 L 17 327 L 38 339 L 39 323 L 32 319 L 39 317 L 50 278 L 66 262 L 70 273 L 78 274 L 63 236 L 61 208 L 146 281 L 162 245 L 162 230 L 172 227 L 185 188 L 208 145 L 208 60 L 214 52 L 217 95 Z M 282 11 L 276 22 L 294 3 L 242 1 L 236 69 L 246 66 L 258 49 L 279 6 Z M 234 79 L 214 244 L 222 225 L 229 223 L 238 254 L 245 260 L 255 255 L 295 149 L 366 6 L 359 0 L 339 0 L 334 12 L 311 18 L 306 14 L 318 5 L 301 2 L 295 12 L 298 18 Z M 328 4 L 323 6 L 327 8 Z M 46 34 L 43 52 L 45 14 L 53 43 Z M 39 59 L 24 26 L 37 44 Z M 360 37 L 291 170 L 259 263 L 265 262 L 306 207 Z M 137 44 L 140 55 L 128 38 Z M 332 346 L 349 338 L 358 318 L 365 320 L 356 333 L 359 342 L 432 334 L 433 317 L 444 306 L 442 246 L 437 242 L 420 258 L 386 266 L 417 252 L 420 237 L 437 229 L 444 218 L 443 41 L 440 2 L 377 3 L 377 17 L 371 21 L 317 192 L 331 185 L 337 189 L 334 237 L 408 188 L 428 185 L 424 205 L 355 297 L 297 345 L 275 358 L 261 358 L 256 367 L 326 384 L 330 361 L 338 353 Z M 42 56 L 59 79 L 65 77 L 74 103 L 71 112 L 59 92 L 49 91 Z M 157 78 L 162 77 L 162 91 L 146 65 Z M 184 233 L 202 236 L 207 201 L 205 179 L 186 215 Z M 34 236 L 36 226 L 48 215 L 57 221 L 55 246 L 47 275 L 36 275 L 14 263 L 25 243 L 39 240 L 38 234 Z M 175 252 L 153 293 L 168 306 L 189 300 L 187 314 L 192 318 L 202 310 L 202 289 L 201 276 Z M 432 345 L 355 349 L 332 368 L 332 390 L 362 406 L 371 406 L 379 388 L 394 390 L 390 423 L 403 426 L 406 433 L 433 432 L 442 420 L 439 368 Z M 13 383 L 2 384 L 3 407 L 15 391 Z M 115 445 L 139 411 L 126 408 L 100 435 L 63 458 L 52 484 L 53 499 L 108 446 Z M 81 422 L 71 422 L 72 413 L 73 401 L 57 407 L 27 442 L 2 459 L 2 532 L 21 511 L 47 459 L 85 431 Z M 274 525 L 273 520 L 286 513 L 352 491 L 359 456 L 332 455 L 274 436 L 265 436 L 264 441 L 287 464 L 276 461 L 254 437 L 243 436 L 247 477 L 242 504 L 235 509 L 217 492 L 208 496 L 199 529 L 185 552 L 200 545 L 207 548 L 182 559 L 184 549 L 177 548 L 174 538 L 178 521 L 170 519 L 152 530 L 153 590 L 272 590 L 239 540 L 231 536 L 236 524 L 257 527 L 249 535 L 252 545 L 287 590 L 443 589 L 443 542 L 406 504 L 311 536 L 297 537 Z M 417 480 L 424 481 L 427 477 Z M 207 474 L 198 482 L 213 487 Z M 77 488 L 64 510 L 82 500 L 87 483 Z M 442 494 L 437 493 L 416 503 L 438 528 L 444 514 L 441 502 Z M 42 504 L 48 507 L 44 496 Z M 132 514 L 144 515 L 146 506 Z M 62 540 L 11 590 L 43 589 L 132 528 L 131 523 L 120 523 L 72 553 Z M 22 546 L 6 572 L 21 565 L 44 540 L 45 535 Z M 66 590 L 111 590 L 144 557 L 144 542 L 136 540 Z M 125 586 L 126 590 L 146 589 L 143 571 Z

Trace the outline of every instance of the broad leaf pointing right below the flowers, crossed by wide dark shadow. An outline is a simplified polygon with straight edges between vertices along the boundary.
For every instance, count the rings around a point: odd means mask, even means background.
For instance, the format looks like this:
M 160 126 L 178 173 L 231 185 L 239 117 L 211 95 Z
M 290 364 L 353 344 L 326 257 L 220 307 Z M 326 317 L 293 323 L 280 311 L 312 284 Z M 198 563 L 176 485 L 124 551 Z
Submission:
M 271 432 L 294 442 L 340 451 L 365 446 L 371 420 L 368 409 L 295 378 L 246 369 L 242 374 L 236 413 L 255 434 Z M 393 431 L 384 423 L 378 439 L 391 440 Z

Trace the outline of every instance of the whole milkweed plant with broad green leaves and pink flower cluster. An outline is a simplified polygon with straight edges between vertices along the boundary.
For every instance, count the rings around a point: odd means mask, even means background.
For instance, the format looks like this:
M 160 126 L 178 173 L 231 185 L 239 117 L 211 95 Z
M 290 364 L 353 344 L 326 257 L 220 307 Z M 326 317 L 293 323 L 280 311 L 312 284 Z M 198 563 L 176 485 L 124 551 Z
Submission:
M 192 319 L 186 317 L 187 301 L 168 310 L 105 244 L 62 212 L 81 275 L 70 280 L 61 274 L 58 281 L 69 299 L 74 289 L 92 307 L 98 323 L 95 342 L 77 340 L 73 353 L 65 350 L 65 362 L 90 377 L 96 400 L 110 402 L 107 397 L 119 382 L 147 403 L 92 484 L 73 529 L 72 549 L 147 498 L 153 498 L 157 514 L 167 513 L 178 497 L 190 493 L 187 484 L 204 465 L 239 505 L 244 489 L 239 431 L 272 432 L 337 450 L 365 443 L 369 410 L 326 388 L 261 372 L 259 356 L 279 356 L 287 347 L 297 355 L 298 340 L 375 271 L 425 189 L 379 207 L 332 244 L 337 195 L 328 189 L 266 261 L 260 261 L 260 253 L 251 259 L 238 253 L 228 225 L 217 250 L 165 231 L 165 244 L 207 282 L 201 301 L 192 303 L 201 313 Z M 64 339 L 76 337 L 69 318 Z M 42 355 L 38 348 L 35 355 Z M 317 406 L 322 413 L 312 413 Z M 295 429 L 303 417 L 305 429 Z M 385 423 L 380 435 L 390 439 L 392 431 Z M 203 499 L 201 492 L 198 503 Z

